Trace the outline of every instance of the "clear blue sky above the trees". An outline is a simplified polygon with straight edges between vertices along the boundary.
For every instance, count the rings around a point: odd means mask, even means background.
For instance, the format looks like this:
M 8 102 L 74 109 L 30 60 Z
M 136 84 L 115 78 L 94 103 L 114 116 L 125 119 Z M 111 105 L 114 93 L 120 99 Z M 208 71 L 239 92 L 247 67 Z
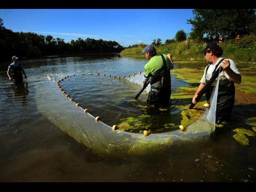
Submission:
M 4 27 L 64 39 L 112 40 L 127 47 L 191 32 L 193 9 L 0 9 Z

